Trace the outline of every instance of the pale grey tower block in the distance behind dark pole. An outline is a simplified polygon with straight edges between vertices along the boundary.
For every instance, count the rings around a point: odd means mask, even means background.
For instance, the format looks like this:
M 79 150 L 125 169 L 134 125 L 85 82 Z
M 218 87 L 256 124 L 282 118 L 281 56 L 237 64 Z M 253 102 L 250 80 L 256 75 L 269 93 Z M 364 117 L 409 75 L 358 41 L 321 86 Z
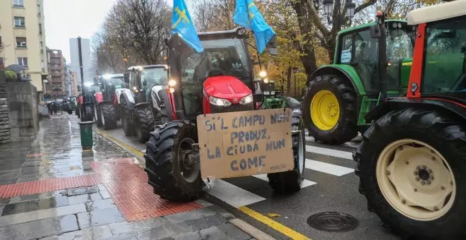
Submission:
M 90 40 L 81 39 L 81 52 L 83 57 L 83 78 L 84 82 L 92 82 L 95 73 L 91 72 L 90 66 Z M 71 55 L 71 71 L 78 73 L 78 81 L 81 81 L 79 68 L 79 48 L 78 38 L 70 38 L 70 55 Z

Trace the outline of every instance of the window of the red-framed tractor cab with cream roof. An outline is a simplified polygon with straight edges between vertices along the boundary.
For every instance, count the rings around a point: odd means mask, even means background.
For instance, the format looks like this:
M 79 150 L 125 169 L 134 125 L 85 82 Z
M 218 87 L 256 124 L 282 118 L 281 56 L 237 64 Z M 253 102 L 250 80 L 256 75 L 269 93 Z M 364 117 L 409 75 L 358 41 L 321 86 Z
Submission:
M 429 23 L 425 44 L 422 93 L 466 92 L 466 18 Z

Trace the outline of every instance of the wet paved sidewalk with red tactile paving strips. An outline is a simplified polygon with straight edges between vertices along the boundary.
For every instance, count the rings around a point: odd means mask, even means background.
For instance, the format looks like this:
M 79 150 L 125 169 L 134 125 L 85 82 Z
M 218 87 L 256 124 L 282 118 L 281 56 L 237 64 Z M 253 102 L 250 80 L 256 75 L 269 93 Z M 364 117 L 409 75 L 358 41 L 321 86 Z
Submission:
M 74 114 L 42 120 L 0 145 L 0 239 L 253 239 L 217 205 L 158 198 L 135 162 L 98 134 L 81 150 Z

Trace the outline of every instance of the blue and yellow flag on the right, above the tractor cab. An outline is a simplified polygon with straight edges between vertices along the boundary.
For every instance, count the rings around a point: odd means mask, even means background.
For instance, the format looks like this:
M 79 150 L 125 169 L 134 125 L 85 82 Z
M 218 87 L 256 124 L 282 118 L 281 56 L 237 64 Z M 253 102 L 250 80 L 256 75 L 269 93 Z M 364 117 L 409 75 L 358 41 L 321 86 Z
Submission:
M 253 0 L 236 0 L 233 21 L 238 25 L 253 30 L 259 53 L 263 53 L 268 42 L 275 35 L 275 31 L 265 23 L 261 12 Z

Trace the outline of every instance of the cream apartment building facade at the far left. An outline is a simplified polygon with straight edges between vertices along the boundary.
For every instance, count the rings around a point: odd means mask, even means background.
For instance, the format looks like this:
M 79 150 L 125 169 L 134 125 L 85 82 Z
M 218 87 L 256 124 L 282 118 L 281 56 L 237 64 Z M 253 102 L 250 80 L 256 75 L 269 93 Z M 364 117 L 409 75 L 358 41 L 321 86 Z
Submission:
M 0 66 L 24 66 L 40 96 L 48 71 L 43 5 L 43 0 L 0 1 Z

